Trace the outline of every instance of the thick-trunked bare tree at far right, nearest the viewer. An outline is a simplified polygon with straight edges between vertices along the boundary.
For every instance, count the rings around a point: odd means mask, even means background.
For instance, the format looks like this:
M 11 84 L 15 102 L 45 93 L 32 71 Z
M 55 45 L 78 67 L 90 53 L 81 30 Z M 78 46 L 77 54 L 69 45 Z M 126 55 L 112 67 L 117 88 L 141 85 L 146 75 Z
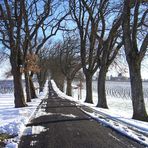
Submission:
M 148 121 L 143 98 L 141 62 L 148 49 L 147 3 L 124 0 L 123 41 L 126 60 L 129 65 L 133 118 Z

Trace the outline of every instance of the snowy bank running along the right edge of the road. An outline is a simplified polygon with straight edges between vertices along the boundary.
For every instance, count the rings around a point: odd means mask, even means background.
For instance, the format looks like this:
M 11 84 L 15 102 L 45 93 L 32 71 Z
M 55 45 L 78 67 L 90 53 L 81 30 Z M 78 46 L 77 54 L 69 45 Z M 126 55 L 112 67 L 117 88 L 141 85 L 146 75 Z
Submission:
M 93 113 L 84 111 L 86 114 L 89 114 L 90 116 L 98 120 L 99 122 L 115 129 L 116 131 L 122 133 L 123 135 L 130 137 L 131 139 L 134 139 L 138 141 L 139 143 L 144 144 L 145 146 L 148 146 L 148 136 L 147 136 L 148 135 L 148 123 L 131 119 L 131 113 L 129 114 L 128 108 L 126 108 L 126 110 L 124 109 L 123 111 L 122 109 L 119 110 L 118 104 L 114 105 L 112 110 L 98 108 L 98 107 L 95 107 L 94 104 L 84 103 L 84 98 L 83 100 L 77 100 L 76 98 L 65 95 L 63 92 L 61 92 L 57 88 L 54 81 L 52 81 L 52 86 L 53 86 L 53 89 L 58 93 L 58 95 L 62 97 L 63 99 L 69 99 L 72 101 L 76 101 L 78 104 L 89 106 L 90 108 L 94 110 Z M 114 98 L 114 100 L 115 99 L 116 98 Z M 95 111 L 103 113 L 105 116 L 108 117 L 108 119 L 105 119 L 102 117 L 100 118 L 100 115 L 98 115 Z M 113 120 L 109 120 L 109 119 L 113 119 Z M 116 120 L 119 122 L 116 122 Z M 138 128 L 138 131 L 141 131 L 143 134 L 132 130 L 130 127 L 134 127 L 136 129 Z

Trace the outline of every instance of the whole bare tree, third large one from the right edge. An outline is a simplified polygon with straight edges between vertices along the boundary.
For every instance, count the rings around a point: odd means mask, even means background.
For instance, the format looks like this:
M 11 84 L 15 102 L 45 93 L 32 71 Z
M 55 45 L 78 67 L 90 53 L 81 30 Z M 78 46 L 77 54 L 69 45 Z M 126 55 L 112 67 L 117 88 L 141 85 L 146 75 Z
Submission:
M 89 7 L 94 11 L 96 5 L 90 2 Z M 70 1 L 71 16 L 77 24 L 80 36 L 80 53 L 83 72 L 86 77 L 86 102 L 92 103 L 92 76 L 99 67 L 96 50 L 99 18 L 93 23 L 87 9 L 81 0 Z

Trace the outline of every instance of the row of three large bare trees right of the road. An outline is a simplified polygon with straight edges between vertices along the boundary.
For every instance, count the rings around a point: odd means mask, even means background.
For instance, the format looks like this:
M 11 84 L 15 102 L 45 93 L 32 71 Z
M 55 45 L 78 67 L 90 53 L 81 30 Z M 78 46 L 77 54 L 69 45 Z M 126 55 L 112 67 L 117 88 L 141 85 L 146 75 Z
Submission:
M 107 108 L 106 73 L 123 47 L 131 79 L 133 118 L 140 120 L 148 120 L 140 71 L 148 45 L 146 7 L 147 3 L 140 0 L 70 1 L 71 16 L 80 37 L 86 102 L 92 103 L 92 76 L 99 68 L 97 106 Z

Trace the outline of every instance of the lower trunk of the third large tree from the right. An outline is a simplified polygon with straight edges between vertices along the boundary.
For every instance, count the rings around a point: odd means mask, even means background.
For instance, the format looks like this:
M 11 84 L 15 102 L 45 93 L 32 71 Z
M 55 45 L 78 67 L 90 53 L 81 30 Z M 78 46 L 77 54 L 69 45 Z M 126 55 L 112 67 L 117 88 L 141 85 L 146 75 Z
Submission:
M 92 76 L 86 74 L 86 100 L 87 103 L 93 103 L 92 101 Z

